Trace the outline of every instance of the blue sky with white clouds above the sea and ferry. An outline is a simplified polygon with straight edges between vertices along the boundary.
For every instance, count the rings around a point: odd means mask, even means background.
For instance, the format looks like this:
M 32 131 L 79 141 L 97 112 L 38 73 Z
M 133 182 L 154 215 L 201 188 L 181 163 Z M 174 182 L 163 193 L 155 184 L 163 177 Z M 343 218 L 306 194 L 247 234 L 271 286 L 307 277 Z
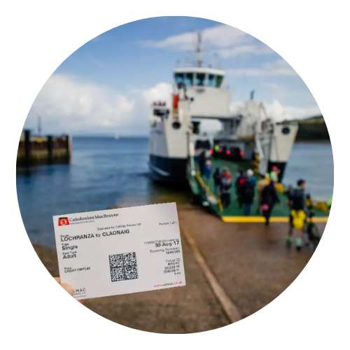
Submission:
M 277 120 L 321 112 L 293 68 L 239 29 L 189 17 L 148 18 L 116 27 L 73 52 L 39 92 L 25 127 L 43 134 L 147 135 L 151 102 L 169 101 L 173 70 L 194 59 L 202 32 L 204 65 L 225 69 L 236 111 L 255 90 Z

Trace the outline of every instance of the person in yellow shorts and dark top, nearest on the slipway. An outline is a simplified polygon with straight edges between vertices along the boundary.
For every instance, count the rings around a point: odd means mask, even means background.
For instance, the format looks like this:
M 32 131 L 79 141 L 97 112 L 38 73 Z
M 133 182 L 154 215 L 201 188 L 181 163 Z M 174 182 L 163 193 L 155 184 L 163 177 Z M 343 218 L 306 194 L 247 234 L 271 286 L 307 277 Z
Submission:
M 295 237 L 295 247 L 298 251 L 302 248 L 302 235 L 304 223 L 306 223 L 306 205 L 305 205 L 305 186 L 306 182 L 303 179 L 297 181 L 297 188 L 290 191 L 289 194 L 289 232 L 286 237 L 286 244 L 290 246 L 292 244 L 293 231 L 297 230 L 297 237 Z

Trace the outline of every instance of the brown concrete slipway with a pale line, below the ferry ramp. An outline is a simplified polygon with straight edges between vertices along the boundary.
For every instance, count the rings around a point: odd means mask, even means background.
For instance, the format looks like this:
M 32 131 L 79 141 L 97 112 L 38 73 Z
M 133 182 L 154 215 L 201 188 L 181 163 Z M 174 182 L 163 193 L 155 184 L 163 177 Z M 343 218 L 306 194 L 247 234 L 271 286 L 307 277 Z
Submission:
M 117 323 L 165 333 L 200 332 L 258 311 L 285 290 L 311 257 L 286 248 L 286 223 L 224 223 L 200 207 L 179 206 L 186 286 L 86 300 Z M 320 230 L 323 223 L 318 223 Z M 55 251 L 36 246 L 52 276 Z

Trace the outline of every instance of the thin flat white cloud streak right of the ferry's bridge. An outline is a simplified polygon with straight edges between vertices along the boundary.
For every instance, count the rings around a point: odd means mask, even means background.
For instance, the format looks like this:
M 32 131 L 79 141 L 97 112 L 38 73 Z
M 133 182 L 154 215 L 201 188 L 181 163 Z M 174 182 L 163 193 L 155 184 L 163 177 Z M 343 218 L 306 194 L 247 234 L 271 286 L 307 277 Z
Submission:
M 297 76 L 295 70 L 284 59 L 266 62 L 257 67 L 230 69 L 228 73 L 234 76 Z

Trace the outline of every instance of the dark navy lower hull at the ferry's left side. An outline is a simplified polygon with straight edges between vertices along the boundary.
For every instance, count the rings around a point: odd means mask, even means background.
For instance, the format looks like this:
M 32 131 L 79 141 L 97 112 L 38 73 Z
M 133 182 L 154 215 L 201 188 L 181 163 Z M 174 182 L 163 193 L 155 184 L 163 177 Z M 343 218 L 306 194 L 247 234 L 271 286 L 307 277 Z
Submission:
M 165 183 L 186 185 L 187 179 L 187 158 L 169 158 L 159 155 L 150 155 L 149 167 L 152 179 Z

